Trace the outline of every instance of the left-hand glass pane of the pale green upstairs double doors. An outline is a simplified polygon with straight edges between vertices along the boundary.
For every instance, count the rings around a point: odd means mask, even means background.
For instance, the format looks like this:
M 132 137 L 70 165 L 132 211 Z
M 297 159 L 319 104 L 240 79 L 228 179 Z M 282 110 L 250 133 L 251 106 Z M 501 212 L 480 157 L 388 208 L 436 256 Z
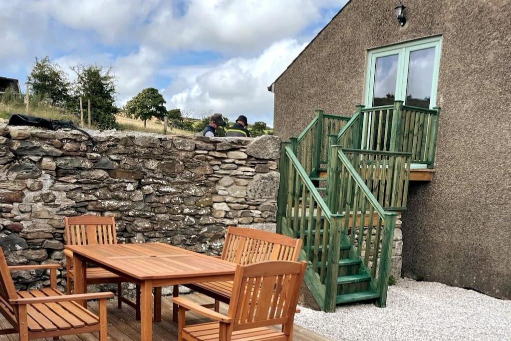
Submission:
M 396 97 L 399 55 L 376 58 L 373 106 L 388 105 Z

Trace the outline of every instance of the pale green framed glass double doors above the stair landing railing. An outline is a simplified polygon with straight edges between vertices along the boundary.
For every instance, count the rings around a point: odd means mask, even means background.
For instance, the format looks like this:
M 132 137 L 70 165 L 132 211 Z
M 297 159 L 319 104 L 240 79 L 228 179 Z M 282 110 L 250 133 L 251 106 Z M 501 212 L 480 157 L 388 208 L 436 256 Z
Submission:
M 425 38 L 370 50 L 365 106 L 396 100 L 424 108 L 436 106 L 442 37 Z

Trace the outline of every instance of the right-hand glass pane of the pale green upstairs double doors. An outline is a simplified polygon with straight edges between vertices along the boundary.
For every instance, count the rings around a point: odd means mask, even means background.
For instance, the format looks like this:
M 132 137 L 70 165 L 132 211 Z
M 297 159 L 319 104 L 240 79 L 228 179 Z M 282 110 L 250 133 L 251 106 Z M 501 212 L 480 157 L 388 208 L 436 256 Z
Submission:
M 429 108 L 435 48 L 410 52 L 406 104 Z

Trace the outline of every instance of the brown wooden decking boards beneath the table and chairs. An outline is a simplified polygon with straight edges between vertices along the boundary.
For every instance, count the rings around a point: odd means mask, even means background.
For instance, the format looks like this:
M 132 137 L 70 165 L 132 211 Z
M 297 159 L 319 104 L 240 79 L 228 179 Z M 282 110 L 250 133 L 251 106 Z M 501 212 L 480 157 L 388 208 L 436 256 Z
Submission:
M 213 300 L 202 294 L 191 294 L 185 296 L 187 299 L 200 304 L 212 303 Z M 171 298 L 162 299 L 162 321 L 153 324 L 153 340 L 155 341 L 172 341 L 177 340 L 177 323 L 172 322 L 172 300 Z M 227 305 L 221 304 L 220 311 L 225 313 Z M 89 308 L 97 313 L 98 303 L 90 302 Z M 117 308 L 117 300 L 108 302 L 108 340 L 109 341 L 138 341 L 140 340 L 140 321 L 136 321 L 135 310 L 128 305 L 123 305 L 123 309 Z M 187 313 L 188 323 L 207 322 L 193 312 Z M 9 327 L 9 323 L 0 316 L 0 326 L 2 328 Z M 98 341 L 98 333 L 62 336 L 64 341 Z M 18 341 L 17 334 L 0 335 L 0 341 Z M 44 339 L 53 341 L 52 338 Z M 312 331 L 295 326 L 295 341 L 326 341 L 328 338 L 322 337 Z

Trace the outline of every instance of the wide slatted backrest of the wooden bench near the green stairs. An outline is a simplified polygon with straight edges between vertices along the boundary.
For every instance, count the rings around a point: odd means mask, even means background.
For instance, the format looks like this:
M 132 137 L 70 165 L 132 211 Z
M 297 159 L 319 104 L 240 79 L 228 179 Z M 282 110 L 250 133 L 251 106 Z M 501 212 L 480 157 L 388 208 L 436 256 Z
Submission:
M 230 226 L 225 237 L 221 258 L 241 265 L 269 260 L 296 262 L 300 249 L 301 239 Z

